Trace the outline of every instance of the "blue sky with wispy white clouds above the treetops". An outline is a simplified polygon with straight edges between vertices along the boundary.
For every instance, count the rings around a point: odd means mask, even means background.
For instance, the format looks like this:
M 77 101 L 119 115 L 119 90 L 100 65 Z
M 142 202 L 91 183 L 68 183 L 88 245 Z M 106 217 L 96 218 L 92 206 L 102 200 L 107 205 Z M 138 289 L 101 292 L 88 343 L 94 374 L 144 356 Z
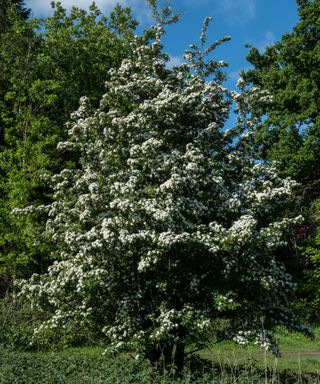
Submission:
M 26 5 L 35 17 L 48 16 L 52 13 L 51 0 L 27 0 Z M 76 5 L 87 8 L 90 0 L 62 0 L 62 5 L 70 8 Z M 115 3 L 132 7 L 141 26 L 152 23 L 150 13 L 144 0 L 96 0 L 104 14 L 108 15 Z M 208 31 L 208 43 L 223 35 L 230 35 L 231 41 L 215 51 L 217 60 L 229 63 L 226 70 L 229 75 L 227 83 L 234 88 L 241 69 L 249 68 L 246 62 L 251 44 L 260 50 L 266 45 L 280 39 L 285 32 L 292 30 L 298 21 L 295 0 L 171 0 L 173 9 L 181 12 L 182 20 L 167 27 L 164 37 L 165 51 L 172 56 L 172 62 L 178 63 L 185 48 L 190 43 L 198 43 L 202 21 L 212 16 L 213 22 Z

